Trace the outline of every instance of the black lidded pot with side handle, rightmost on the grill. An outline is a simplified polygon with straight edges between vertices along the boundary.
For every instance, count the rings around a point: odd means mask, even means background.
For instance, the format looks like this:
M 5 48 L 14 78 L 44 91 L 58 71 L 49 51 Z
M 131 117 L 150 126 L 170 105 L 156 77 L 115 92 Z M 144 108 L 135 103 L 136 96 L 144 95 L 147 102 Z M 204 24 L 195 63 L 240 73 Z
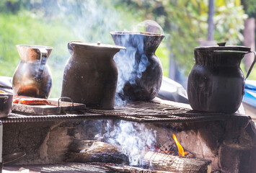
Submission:
M 244 95 L 240 63 L 250 48 L 212 46 L 194 49 L 195 65 L 188 76 L 187 95 L 193 110 L 236 112 Z M 255 53 L 255 52 L 253 52 Z M 246 79 L 254 66 L 252 63 Z

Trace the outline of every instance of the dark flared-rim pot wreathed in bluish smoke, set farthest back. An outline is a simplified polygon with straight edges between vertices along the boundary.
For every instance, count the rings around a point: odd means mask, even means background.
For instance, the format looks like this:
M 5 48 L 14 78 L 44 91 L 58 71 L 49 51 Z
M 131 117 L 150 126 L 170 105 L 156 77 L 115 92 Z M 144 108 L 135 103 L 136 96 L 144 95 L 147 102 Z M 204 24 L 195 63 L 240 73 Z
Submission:
M 162 84 L 162 64 L 155 55 L 164 35 L 148 32 L 110 32 L 120 50 L 115 55 L 118 66 L 117 95 L 128 101 L 154 99 Z

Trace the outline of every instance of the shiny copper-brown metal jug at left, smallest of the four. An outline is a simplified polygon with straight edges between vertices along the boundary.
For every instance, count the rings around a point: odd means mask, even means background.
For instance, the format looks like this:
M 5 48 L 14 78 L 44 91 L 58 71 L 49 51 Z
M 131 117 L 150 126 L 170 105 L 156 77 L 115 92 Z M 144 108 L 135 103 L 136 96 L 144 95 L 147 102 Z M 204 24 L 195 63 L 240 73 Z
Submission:
M 47 99 L 52 88 L 52 75 L 46 61 L 53 48 L 17 45 L 17 50 L 21 61 L 12 80 L 14 94 Z

